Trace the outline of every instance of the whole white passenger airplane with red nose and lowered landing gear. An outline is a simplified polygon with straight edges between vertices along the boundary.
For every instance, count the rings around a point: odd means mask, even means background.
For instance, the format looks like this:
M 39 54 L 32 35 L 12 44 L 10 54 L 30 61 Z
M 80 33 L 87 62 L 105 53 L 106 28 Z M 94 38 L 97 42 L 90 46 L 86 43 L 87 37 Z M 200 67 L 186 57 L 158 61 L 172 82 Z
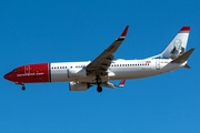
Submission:
M 126 39 L 129 25 L 93 61 L 26 64 L 4 74 L 4 79 L 22 85 L 26 83 L 69 82 L 70 91 L 87 91 L 97 85 L 114 89 L 124 86 L 126 80 L 141 79 L 171 72 L 187 64 L 194 48 L 186 51 L 190 27 L 182 27 L 168 47 L 159 54 L 142 60 L 114 60 L 114 53 Z M 109 81 L 121 80 L 120 84 Z

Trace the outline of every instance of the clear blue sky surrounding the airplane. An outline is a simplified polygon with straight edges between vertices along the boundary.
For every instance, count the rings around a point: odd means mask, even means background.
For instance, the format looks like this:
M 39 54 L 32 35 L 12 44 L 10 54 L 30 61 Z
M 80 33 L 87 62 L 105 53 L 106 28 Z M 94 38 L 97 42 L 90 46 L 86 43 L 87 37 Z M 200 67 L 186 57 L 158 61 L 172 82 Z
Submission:
M 0 132 L 199 133 L 200 2 L 194 0 L 1 0 Z M 191 70 L 127 81 L 123 89 L 70 92 L 68 83 L 20 85 L 6 81 L 16 66 L 88 61 L 129 24 L 116 59 L 161 52 L 183 25 L 197 48 Z M 117 81 L 118 82 L 118 81 Z

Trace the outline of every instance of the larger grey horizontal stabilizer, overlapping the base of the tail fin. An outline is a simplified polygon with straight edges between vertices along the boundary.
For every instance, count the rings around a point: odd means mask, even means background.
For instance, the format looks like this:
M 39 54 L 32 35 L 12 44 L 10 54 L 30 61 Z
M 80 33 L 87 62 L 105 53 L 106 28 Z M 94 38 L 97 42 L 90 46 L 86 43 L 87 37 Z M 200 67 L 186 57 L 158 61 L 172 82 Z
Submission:
M 176 58 L 171 63 L 183 63 L 188 60 L 190 54 L 193 52 L 194 48 L 190 49 L 189 51 L 184 52 L 182 55 Z

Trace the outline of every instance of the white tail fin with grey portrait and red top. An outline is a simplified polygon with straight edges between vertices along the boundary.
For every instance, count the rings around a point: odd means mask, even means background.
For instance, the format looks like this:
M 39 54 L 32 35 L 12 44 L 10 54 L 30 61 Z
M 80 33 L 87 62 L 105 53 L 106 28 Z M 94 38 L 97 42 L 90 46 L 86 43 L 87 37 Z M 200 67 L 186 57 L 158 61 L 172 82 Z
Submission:
M 187 49 L 190 27 L 182 27 L 162 53 L 151 57 L 151 59 L 176 59 Z

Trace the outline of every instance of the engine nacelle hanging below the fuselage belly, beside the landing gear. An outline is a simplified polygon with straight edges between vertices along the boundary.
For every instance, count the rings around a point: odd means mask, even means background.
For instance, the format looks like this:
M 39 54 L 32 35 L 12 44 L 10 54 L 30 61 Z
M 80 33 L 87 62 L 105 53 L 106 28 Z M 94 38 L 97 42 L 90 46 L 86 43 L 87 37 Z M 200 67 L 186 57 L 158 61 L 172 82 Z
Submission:
M 70 91 L 87 91 L 89 88 L 90 85 L 88 83 L 77 83 L 77 82 L 69 83 Z

